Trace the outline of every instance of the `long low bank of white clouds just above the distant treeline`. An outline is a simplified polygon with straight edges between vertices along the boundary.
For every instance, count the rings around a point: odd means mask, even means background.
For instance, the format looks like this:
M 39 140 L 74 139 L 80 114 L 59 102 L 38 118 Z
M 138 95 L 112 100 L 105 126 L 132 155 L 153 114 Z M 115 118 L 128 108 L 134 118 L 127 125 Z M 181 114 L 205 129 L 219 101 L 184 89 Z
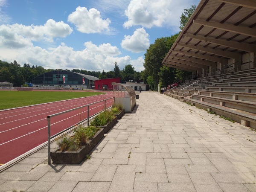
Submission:
M 0 46 L 0 60 L 7 62 L 16 60 L 20 64 L 28 63 L 31 66 L 38 65 L 46 69 L 83 69 L 90 71 L 113 70 L 115 62 L 118 63 L 120 69 L 123 69 L 127 64 L 131 64 L 131 62 L 136 65 L 140 63 L 131 60 L 131 57 L 128 55 L 122 57 L 115 56 L 120 52 L 111 44 L 97 46 L 92 42 L 86 42 L 84 45 L 85 48 L 81 51 L 75 51 L 64 43 L 50 49 L 33 46 L 20 49 L 6 49 Z M 106 47 L 113 50 L 109 55 L 105 52 Z M 135 70 L 139 71 L 137 67 L 135 67 Z

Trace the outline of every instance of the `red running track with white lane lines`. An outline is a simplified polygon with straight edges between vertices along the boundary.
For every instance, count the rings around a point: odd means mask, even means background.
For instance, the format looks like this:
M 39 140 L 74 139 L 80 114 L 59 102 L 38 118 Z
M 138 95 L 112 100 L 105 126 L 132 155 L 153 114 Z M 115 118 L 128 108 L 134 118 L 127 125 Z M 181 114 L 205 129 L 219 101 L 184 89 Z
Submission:
M 104 95 L 0 111 L 0 164 L 5 164 L 47 141 L 47 116 L 111 97 L 113 94 L 108 92 Z M 113 99 L 107 100 L 107 107 L 112 104 Z M 98 113 L 104 107 L 105 102 L 90 105 L 89 115 Z M 87 107 L 51 118 L 51 136 L 86 118 Z

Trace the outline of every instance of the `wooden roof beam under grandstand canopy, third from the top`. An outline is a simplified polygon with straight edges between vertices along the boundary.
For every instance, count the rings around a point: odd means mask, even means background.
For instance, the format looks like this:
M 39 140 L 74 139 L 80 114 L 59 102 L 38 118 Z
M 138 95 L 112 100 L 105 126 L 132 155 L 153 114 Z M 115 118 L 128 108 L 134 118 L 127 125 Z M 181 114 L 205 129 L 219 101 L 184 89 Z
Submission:
M 199 36 L 199 35 L 190 35 L 190 34 L 184 34 L 184 37 L 194 38 L 194 39 L 209 42 L 212 44 L 231 47 L 233 49 L 239 49 L 239 50 L 246 51 L 246 52 L 255 52 L 256 51 L 256 46 L 252 45 L 252 44 L 245 44 L 245 43 L 239 43 L 236 41 L 227 41 L 227 40 L 222 40 L 222 39 L 204 37 L 204 36 Z

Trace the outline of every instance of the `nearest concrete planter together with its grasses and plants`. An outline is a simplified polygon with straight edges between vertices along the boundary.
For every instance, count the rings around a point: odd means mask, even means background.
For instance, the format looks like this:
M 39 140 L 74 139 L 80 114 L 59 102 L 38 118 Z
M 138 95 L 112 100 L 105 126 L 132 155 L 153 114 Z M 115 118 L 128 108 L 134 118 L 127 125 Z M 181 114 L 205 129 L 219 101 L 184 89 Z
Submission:
M 53 163 L 79 164 L 93 147 L 104 137 L 100 127 L 89 126 L 76 128 L 74 134 L 57 140 L 58 149 L 51 152 Z

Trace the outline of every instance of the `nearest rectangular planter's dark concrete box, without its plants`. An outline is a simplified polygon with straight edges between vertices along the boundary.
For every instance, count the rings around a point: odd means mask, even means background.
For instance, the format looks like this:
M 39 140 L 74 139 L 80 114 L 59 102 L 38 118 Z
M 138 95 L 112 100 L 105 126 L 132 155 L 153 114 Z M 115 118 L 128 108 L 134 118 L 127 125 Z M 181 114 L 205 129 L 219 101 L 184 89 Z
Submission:
M 79 164 L 90 153 L 97 143 L 104 137 L 104 129 L 100 129 L 87 145 L 77 151 L 60 151 L 59 149 L 51 152 L 52 162 L 56 164 Z

